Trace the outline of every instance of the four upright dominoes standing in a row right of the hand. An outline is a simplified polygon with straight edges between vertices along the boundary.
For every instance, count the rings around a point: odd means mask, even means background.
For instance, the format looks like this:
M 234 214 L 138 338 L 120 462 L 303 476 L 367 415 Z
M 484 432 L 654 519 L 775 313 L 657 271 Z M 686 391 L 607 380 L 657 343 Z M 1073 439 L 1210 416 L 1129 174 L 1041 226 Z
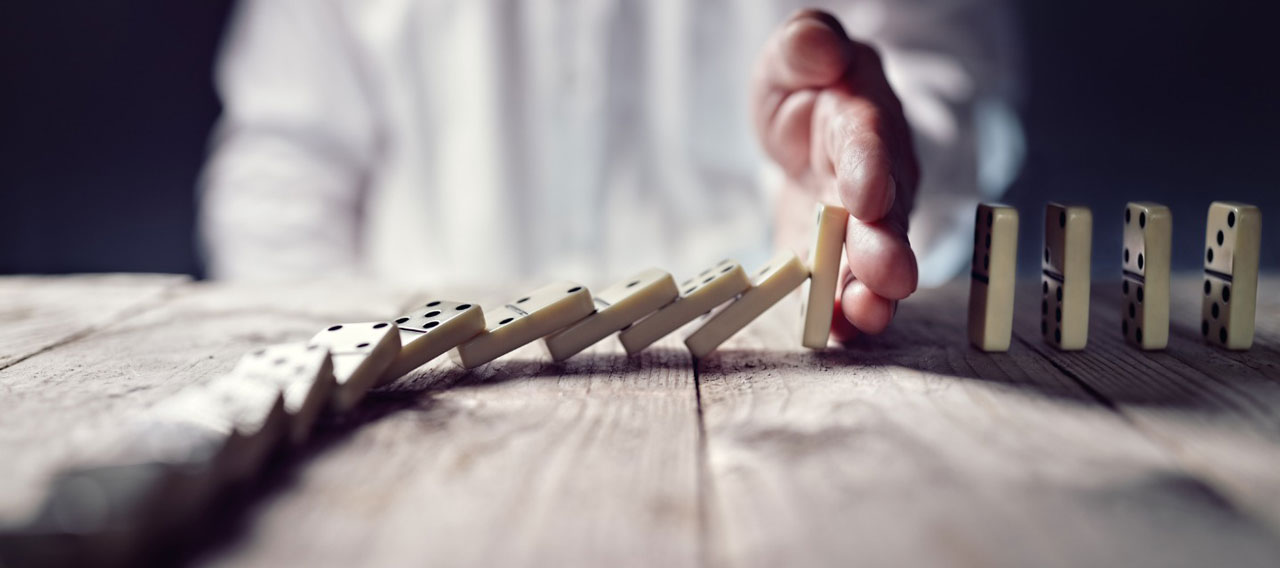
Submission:
M 1093 215 L 1087 207 L 1048 203 L 1041 261 L 1041 335 L 1064 351 L 1084 349 L 1089 327 Z M 1204 230 L 1201 334 L 1228 349 L 1253 344 L 1262 214 L 1245 203 L 1213 202 Z M 1169 343 L 1172 215 L 1169 207 L 1132 202 L 1124 210 L 1121 329 L 1128 343 L 1164 349 Z M 969 340 L 1007 351 L 1014 319 L 1018 211 L 979 205 L 969 288 Z

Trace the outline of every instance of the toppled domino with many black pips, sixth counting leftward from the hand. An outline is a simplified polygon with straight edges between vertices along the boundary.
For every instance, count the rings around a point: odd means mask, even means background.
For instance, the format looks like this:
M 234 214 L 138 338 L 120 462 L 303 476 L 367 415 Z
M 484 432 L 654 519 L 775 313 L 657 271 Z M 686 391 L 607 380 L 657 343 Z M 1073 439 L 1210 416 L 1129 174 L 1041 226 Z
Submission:
M 484 311 L 475 303 L 433 299 L 397 317 L 396 325 L 399 327 L 401 352 L 379 380 L 381 385 L 480 335 L 484 331 Z

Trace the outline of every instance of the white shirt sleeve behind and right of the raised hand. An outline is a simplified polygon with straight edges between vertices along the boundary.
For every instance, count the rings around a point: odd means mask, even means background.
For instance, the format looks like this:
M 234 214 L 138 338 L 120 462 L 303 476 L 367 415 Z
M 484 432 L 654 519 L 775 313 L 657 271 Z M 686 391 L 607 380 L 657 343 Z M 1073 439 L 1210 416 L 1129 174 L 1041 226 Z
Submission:
M 922 182 L 910 241 L 920 284 L 964 269 L 974 206 L 1004 194 L 1021 164 L 1019 45 L 1004 0 L 831 1 L 882 54 L 911 124 Z

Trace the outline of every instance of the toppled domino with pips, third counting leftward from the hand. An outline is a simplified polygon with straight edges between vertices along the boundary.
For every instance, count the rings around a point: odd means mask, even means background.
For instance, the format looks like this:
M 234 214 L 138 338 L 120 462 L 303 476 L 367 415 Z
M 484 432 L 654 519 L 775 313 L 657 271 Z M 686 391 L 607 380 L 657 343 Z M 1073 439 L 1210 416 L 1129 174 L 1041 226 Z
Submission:
M 751 280 L 742 266 L 724 258 L 680 284 L 680 297 L 649 317 L 618 334 L 627 354 L 636 354 L 667 334 L 694 321 L 735 296 L 746 292 Z

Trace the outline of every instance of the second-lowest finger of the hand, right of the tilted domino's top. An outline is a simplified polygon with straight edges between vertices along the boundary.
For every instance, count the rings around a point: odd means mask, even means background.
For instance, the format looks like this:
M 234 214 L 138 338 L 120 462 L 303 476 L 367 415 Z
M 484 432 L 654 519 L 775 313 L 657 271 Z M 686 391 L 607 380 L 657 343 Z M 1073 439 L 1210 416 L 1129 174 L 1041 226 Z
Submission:
M 905 214 L 897 211 L 877 223 L 850 219 L 845 229 L 850 272 L 863 287 L 888 299 L 911 296 L 918 280 L 915 252 L 906 241 Z

